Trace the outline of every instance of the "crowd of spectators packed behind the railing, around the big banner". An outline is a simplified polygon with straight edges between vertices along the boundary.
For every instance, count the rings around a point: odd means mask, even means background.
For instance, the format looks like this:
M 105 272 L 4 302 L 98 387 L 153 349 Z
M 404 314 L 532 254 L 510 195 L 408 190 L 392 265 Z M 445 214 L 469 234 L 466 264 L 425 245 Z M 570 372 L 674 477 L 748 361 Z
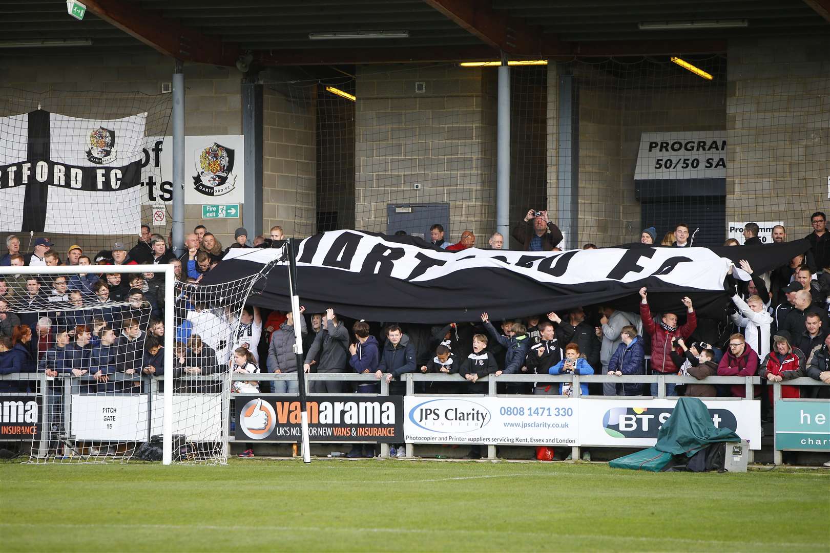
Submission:
M 46 376 L 88 376 L 84 391 L 136 393 L 140 376 L 164 374 L 164 332 L 175 332 L 177 375 L 209 375 L 227 370 L 292 373 L 358 373 L 388 382 L 391 394 L 403 394 L 406 373 L 457 374 L 457 381 L 419 382 L 418 392 L 481 393 L 481 379 L 507 374 L 530 375 L 686 375 L 760 376 L 764 383 L 809 376 L 830 385 L 830 247 L 826 216 L 817 211 L 807 239 L 809 249 L 789 263 L 764 274 L 740 261 L 726 277 L 730 308 L 705 316 L 696 313 L 690 298 L 675 308 L 655 313 L 648 290 L 639 290 L 637 312 L 611 305 L 572 308 L 567 313 L 528 313 L 525 317 L 492 322 L 481 313 L 476 322 L 424 325 L 366 322 L 339 317 L 332 309 L 305 313 L 266 312 L 245 306 L 239 320 L 228 317 L 198 289 L 204 275 L 222 262 L 231 248 L 250 248 L 247 230 L 239 228 L 226 249 L 204 226 L 187 236 L 183 255 L 173 255 L 169 237 L 143 226 L 138 242 L 128 249 L 116 242 L 111 250 L 90 256 L 78 245 L 58 252 L 46 238 L 23 254 L 15 235 L 6 240 L 0 265 L 89 265 L 85 274 L 0 278 L 0 374 L 45 371 Z M 759 227 L 745 225 L 745 244 L 760 243 Z M 522 250 L 559 250 L 563 235 L 546 211 L 530 210 L 511 232 Z M 657 230 L 642 230 L 641 242 L 657 245 Z M 270 236 L 257 236 L 253 247 L 270 247 L 284 240 L 281 227 Z M 776 226 L 774 243 L 787 240 Z M 476 237 L 465 230 L 456 243 L 447 240 L 441 225 L 430 229 L 430 243 L 447 251 L 472 247 Z M 662 245 L 688 247 L 689 227 L 677 224 Z M 488 239 L 492 249 L 505 247 L 505 236 Z M 728 240 L 726 245 L 738 245 Z M 585 249 L 596 248 L 584 245 Z M 176 305 L 164 302 L 161 274 L 99 274 L 95 265 L 173 264 L 178 280 Z M 740 269 L 740 270 L 737 270 Z M 739 278 L 739 274 L 743 275 Z M 749 278 L 747 280 L 746 278 Z M 188 290 L 190 292 L 188 292 Z M 176 328 L 164 328 L 164 312 L 173 308 Z M 302 367 L 294 354 L 295 325 L 304 340 Z M 115 375 L 120 375 L 115 378 Z M 573 386 L 538 383 L 498 383 L 500 393 L 572 395 Z M 0 381 L 0 390 L 14 391 L 26 382 Z M 296 380 L 234 381 L 237 393 L 273 391 L 295 393 Z M 657 395 L 657 385 L 613 381 L 581 386 L 582 395 Z M 784 397 L 830 397 L 830 387 L 784 386 Z M 376 393 L 378 385 L 362 381 L 312 381 L 311 393 Z M 755 390 L 769 417 L 772 386 Z M 710 382 L 666 385 L 667 395 L 744 397 L 745 386 Z M 367 454 L 357 449 L 353 455 Z M 403 454 L 403 452 L 401 452 Z M 243 454 L 252 456 L 251 449 Z

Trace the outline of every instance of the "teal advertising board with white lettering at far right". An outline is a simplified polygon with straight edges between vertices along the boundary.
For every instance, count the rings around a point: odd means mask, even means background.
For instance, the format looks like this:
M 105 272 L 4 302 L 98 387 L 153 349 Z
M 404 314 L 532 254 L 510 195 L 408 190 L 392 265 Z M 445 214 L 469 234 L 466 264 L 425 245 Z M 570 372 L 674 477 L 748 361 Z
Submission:
M 830 451 L 830 401 L 776 401 L 775 448 Z

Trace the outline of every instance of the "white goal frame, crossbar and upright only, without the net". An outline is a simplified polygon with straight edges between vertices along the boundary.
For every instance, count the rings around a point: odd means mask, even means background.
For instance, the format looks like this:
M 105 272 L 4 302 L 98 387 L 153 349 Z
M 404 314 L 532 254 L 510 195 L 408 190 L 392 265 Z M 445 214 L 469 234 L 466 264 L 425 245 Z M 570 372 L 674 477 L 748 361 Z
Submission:
M 186 269 L 183 269 L 186 270 Z M 50 276 L 50 275 L 72 275 L 72 274 L 143 274 L 155 273 L 164 274 L 164 373 L 171 381 L 164 390 L 164 422 L 163 422 L 163 458 L 165 465 L 173 463 L 173 342 L 176 336 L 175 326 L 175 297 L 176 297 L 176 276 L 174 267 L 171 264 L 164 265 L 56 265 L 56 266 L 26 266 L 26 267 L 0 267 L 0 276 L 25 275 L 25 276 Z M 19 312 L 20 310 L 18 310 Z M 46 420 L 43 421 L 44 426 Z

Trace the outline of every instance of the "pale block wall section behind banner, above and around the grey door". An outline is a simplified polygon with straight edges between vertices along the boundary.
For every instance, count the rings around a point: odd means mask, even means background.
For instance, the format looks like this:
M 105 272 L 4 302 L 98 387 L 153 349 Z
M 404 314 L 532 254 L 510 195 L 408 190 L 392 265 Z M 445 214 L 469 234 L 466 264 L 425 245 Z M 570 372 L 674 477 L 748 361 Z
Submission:
M 417 81 L 425 93 L 415 92 Z M 496 219 L 495 94 L 490 68 L 359 66 L 357 228 L 385 232 L 388 204 L 447 202 L 445 238 L 472 230 L 476 245 L 486 245 Z

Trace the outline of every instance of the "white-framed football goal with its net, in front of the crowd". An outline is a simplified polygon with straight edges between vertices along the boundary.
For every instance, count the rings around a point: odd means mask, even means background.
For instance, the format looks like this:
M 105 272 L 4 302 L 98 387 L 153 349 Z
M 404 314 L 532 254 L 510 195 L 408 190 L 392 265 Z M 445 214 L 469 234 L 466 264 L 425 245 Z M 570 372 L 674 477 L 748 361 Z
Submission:
M 2 393 L 36 402 L 30 462 L 227 462 L 232 360 L 257 278 L 183 282 L 172 265 L 0 268 L 0 358 L 12 375 Z

